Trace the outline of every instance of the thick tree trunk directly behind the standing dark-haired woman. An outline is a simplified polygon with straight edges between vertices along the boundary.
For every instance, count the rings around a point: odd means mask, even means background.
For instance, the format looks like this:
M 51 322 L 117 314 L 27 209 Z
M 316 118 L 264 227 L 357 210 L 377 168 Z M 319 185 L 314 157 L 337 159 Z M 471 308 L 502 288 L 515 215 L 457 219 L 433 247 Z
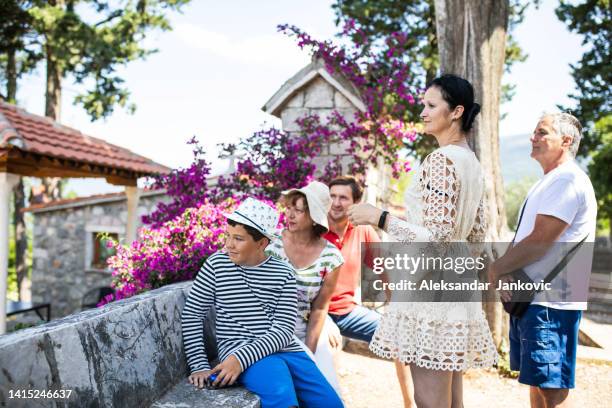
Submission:
M 501 166 L 499 163 L 499 105 L 504 72 L 508 0 L 436 0 L 436 30 L 440 70 L 466 78 L 474 86 L 482 110 L 469 142 L 484 173 L 489 230 L 487 241 L 503 241 L 507 234 Z M 484 309 L 499 347 L 504 319 L 501 303 L 486 294 Z

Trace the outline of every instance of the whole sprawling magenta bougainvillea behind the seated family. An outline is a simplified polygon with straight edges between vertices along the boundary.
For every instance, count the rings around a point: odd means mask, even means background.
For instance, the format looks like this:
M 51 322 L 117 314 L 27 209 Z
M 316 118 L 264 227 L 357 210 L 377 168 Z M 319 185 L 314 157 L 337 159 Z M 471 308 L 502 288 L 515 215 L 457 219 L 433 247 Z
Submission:
M 419 131 L 408 120 L 410 110 L 421 90 L 410 85 L 410 67 L 401 50 L 408 40 L 393 33 L 382 47 L 363 52 L 365 36 L 348 21 L 342 35 L 352 46 L 338 46 L 331 41 L 317 41 L 297 27 L 282 25 L 279 31 L 297 39 L 325 68 L 342 75 L 359 91 L 366 106 L 354 118 L 335 111 L 324 120 L 306 115 L 297 120 L 300 135 L 294 137 L 276 128 L 268 128 L 242 139 L 237 145 L 222 146 L 223 154 L 239 153 L 236 170 L 209 186 L 210 165 L 204 150 L 193 138 L 193 163 L 158 177 L 153 188 L 165 188 L 170 198 L 160 203 L 149 216 L 148 227 L 138 239 L 125 247 L 117 242 L 116 255 L 109 259 L 113 271 L 114 296 L 105 302 L 132 296 L 162 285 L 192 279 L 210 254 L 221 248 L 225 219 L 223 211 L 245 196 L 275 202 L 282 191 L 301 187 L 315 174 L 321 181 L 341 175 L 365 175 L 369 164 L 379 159 L 389 165 L 393 176 L 410 170 L 410 162 L 401 152 L 410 149 Z M 367 48 L 367 47 L 366 47 Z M 414 110 L 414 109 L 412 109 Z M 325 146 L 341 144 L 353 157 L 352 167 L 342 169 L 337 160 L 315 164 Z

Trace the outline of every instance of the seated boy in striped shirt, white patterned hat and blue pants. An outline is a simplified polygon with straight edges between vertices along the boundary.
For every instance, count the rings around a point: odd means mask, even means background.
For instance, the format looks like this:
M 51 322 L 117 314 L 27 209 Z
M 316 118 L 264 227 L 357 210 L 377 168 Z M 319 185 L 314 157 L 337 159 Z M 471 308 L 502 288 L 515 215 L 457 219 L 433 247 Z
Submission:
M 258 395 L 263 408 L 342 407 L 342 401 L 293 336 L 297 315 L 294 271 L 268 257 L 278 213 L 247 198 L 228 220 L 225 252 L 211 255 L 196 276 L 181 322 L 191 375 L 201 388 L 236 381 Z M 216 312 L 220 364 L 211 369 L 203 321 Z

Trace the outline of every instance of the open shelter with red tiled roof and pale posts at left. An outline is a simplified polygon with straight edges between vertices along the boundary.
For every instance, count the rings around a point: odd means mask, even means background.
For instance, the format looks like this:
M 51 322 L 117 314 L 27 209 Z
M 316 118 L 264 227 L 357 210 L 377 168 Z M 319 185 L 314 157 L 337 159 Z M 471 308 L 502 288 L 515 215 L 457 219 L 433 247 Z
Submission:
M 9 202 L 20 176 L 105 178 L 125 186 L 126 241 L 136 238 L 138 179 L 170 169 L 49 118 L 0 101 L 0 334 L 6 331 Z

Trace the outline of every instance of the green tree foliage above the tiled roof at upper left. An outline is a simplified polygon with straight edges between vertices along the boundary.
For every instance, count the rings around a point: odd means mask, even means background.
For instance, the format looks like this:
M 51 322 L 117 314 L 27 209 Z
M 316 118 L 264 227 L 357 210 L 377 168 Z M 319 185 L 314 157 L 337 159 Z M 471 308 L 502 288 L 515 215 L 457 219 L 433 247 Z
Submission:
M 6 3 L 13 16 L 24 16 L 27 32 L 35 39 L 36 55 L 44 55 L 47 69 L 53 67 L 60 80 L 82 84 L 84 92 L 75 102 L 92 120 L 112 114 L 115 106 L 130 111 L 129 90 L 118 70 L 143 59 L 154 49 L 144 47 L 151 30 L 169 30 L 168 11 L 180 10 L 189 0 L 52 0 Z M 3 5 L 3 10 L 4 6 Z M 4 12 L 3 12 L 4 14 Z M 3 21 L 14 22 L 15 19 Z M 21 21 L 21 20 L 17 20 Z M 12 27 L 2 24 L 0 27 Z M 9 40 L 9 30 L 0 31 L 0 44 Z M 14 40 L 14 39 L 13 39 Z M 5 54 L 2 50 L 0 53 Z M 61 85 L 60 85 L 61 87 Z

